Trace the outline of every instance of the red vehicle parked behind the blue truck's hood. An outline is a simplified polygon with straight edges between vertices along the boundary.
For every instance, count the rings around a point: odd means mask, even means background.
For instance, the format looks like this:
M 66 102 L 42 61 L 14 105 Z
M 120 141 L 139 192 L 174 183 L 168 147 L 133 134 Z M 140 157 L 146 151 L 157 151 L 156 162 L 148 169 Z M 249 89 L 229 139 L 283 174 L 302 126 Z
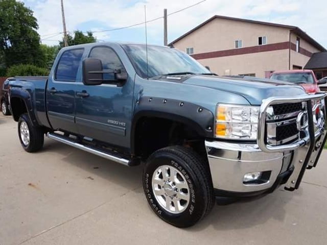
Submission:
M 312 70 L 285 70 L 275 71 L 271 79 L 290 82 L 301 85 L 309 94 L 315 94 L 320 91 L 319 83 Z

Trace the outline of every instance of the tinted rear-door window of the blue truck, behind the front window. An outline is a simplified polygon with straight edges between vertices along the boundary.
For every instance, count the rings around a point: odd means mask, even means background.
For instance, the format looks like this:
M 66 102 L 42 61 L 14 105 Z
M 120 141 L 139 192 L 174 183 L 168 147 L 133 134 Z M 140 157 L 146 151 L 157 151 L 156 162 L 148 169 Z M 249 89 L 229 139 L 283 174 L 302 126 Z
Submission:
M 57 66 L 56 80 L 72 82 L 76 80 L 83 52 L 83 49 L 67 50 L 61 55 Z

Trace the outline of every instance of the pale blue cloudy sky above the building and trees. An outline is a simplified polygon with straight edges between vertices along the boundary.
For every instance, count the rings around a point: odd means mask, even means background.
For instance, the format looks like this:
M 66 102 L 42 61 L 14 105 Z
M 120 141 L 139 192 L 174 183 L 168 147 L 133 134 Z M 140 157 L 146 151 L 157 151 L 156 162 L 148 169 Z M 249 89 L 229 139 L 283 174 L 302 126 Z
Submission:
M 129 26 L 168 14 L 200 0 L 64 0 L 68 31 L 102 31 Z M 24 0 L 34 11 L 41 40 L 57 44 L 62 38 L 60 0 Z M 327 47 L 327 1 L 313 0 L 206 0 L 168 17 L 168 41 L 172 41 L 215 14 L 297 26 Z M 50 35 L 53 34 L 53 35 Z M 144 25 L 129 29 L 95 33 L 99 41 L 145 42 Z M 163 44 L 163 20 L 148 23 L 148 42 Z

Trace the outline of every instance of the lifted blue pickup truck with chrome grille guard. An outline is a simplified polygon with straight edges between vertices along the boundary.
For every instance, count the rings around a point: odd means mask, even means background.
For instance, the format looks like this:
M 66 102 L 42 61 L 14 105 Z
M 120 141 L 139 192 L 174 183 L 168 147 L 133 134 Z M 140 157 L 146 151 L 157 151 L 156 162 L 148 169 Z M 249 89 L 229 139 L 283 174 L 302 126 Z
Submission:
M 324 93 L 219 77 L 164 46 L 62 48 L 49 77 L 16 77 L 9 98 L 27 152 L 46 135 L 126 166 L 145 162 L 146 199 L 176 227 L 197 223 L 216 197 L 297 189 L 326 140 Z

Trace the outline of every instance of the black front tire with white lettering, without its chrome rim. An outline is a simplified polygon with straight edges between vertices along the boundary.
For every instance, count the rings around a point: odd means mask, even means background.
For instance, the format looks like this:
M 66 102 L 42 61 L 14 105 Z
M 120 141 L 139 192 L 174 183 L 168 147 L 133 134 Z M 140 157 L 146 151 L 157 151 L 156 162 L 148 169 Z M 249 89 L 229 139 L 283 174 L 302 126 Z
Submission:
M 165 222 L 180 228 L 190 227 L 208 214 L 214 205 L 214 193 L 207 164 L 192 149 L 169 146 L 154 152 L 148 159 L 143 174 L 143 188 L 152 210 Z M 158 203 L 152 188 L 152 177 L 161 165 L 173 166 L 185 177 L 192 198 L 181 213 L 172 213 Z

